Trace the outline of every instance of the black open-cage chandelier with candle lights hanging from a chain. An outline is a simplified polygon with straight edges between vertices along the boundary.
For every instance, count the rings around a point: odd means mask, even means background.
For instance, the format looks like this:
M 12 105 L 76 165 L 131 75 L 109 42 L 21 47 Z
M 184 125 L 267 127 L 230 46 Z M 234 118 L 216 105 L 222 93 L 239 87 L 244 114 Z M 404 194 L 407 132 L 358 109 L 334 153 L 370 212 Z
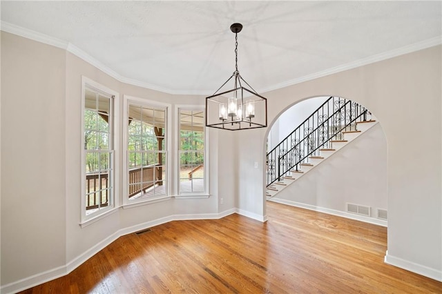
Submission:
M 235 33 L 235 71 L 213 95 L 206 97 L 206 126 L 224 130 L 265 128 L 267 99 L 258 95 L 238 71 L 238 32 L 242 24 L 233 23 L 230 30 Z

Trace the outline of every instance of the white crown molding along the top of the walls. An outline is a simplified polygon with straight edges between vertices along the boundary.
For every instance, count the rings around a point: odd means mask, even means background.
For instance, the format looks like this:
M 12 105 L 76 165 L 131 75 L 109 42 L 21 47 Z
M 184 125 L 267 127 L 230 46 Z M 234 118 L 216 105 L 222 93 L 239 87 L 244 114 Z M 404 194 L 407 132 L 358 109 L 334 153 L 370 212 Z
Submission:
M 12 23 L 8 23 L 6 21 L 1 21 L 1 30 L 5 32 L 10 32 L 11 34 L 19 35 L 21 37 L 25 37 L 28 39 L 32 39 L 34 41 L 39 41 L 41 43 L 46 43 L 52 46 L 56 46 L 58 48 L 66 49 L 68 52 L 72 53 L 73 55 L 83 59 L 84 61 L 87 61 L 91 65 L 99 68 L 99 70 L 102 70 L 106 74 L 110 75 L 114 79 L 117 79 L 117 81 L 121 81 L 122 83 L 133 85 L 133 86 L 140 86 L 142 88 L 148 88 L 151 90 L 156 90 L 168 94 L 173 95 L 211 95 L 212 92 L 209 90 L 171 90 L 167 88 L 162 88 L 160 86 L 155 86 L 152 84 L 148 84 L 143 81 L 137 81 L 135 79 L 129 79 L 127 77 L 123 77 L 122 75 L 119 75 L 114 70 L 111 70 L 111 68 L 108 68 L 103 63 L 97 61 L 94 57 L 91 57 L 83 50 L 75 47 L 74 45 L 68 43 L 67 41 L 60 40 L 54 37 L 50 37 L 48 35 L 41 34 L 40 32 L 36 32 L 35 30 L 29 30 L 27 28 L 21 28 L 19 26 L 13 25 Z M 379 53 L 377 55 L 373 55 L 371 57 L 359 59 L 350 63 L 343 64 L 341 66 L 336 66 L 334 68 L 329 68 L 327 70 L 321 70 L 320 72 L 314 72 L 311 75 L 306 75 L 304 77 L 300 77 L 298 79 L 291 79 L 289 81 L 282 82 L 280 84 L 276 84 L 274 86 L 270 86 L 267 88 L 261 88 L 258 89 L 258 92 L 264 93 L 269 92 L 271 90 L 278 90 L 280 88 L 285 88 L 288 86 L 293 86 L 295 84 L 300 84 L 305 81 L 311 81 L 312 79 L 318 79 L 319 77 L 325 77 L 327 75 L 333 75 L 338 72 L 343 72 L 345 70 L 351 70 L 352 68 L 357 68 L 359 66 L 366 66 L 370 63 L 375 63 L 378 61 L 383 61 L 385 59 L 390 59 L 393 57 L 397 57 L 400 55 L 405 55 L 407 53 L 423 50 L 425 48 L 430 48 L 433 46 L 438 46 L 442 43 L 441 37 L 434 37 L 431 39 L 426 39 L 417 43 L 413 43 L 407 46 L 403 46 L 401 48 L 396 48 L 394 50 L 386 51 Z

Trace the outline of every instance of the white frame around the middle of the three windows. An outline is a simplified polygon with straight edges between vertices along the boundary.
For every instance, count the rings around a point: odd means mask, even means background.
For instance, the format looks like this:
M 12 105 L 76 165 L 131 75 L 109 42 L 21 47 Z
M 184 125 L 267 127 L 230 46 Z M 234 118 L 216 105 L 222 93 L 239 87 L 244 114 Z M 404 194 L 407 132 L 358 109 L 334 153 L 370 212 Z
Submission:
M 129 199 L 128 197 L 128 107 L 130 104 L 135 104 L 139 106 L 147 106 L 153 108 L 164 108 L 166 114 L 166 195 L 158 195 L 152 197 L 141 197 L 140 199 Z M 123 95 L 123 208 L 132 208 L 136 206 L 142 206 L 146 204 L 152 204 L 156 202 L 162 202 L 171 199 L 171 104 L 166 104 L 158 101 L 143 99 L 140 97 L 133 97 L 130 95 Z

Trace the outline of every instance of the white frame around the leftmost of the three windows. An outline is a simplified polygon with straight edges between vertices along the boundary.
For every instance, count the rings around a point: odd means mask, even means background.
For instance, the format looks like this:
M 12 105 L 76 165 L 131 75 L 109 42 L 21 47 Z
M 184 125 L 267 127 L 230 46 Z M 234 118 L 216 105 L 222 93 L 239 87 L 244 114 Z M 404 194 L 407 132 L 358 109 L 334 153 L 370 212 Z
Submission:
M 111 159 L 113 175 L 111 177 L 111 185 L 113 186 L 111 195 L 109 198 L 109 205 L 105 208 L 99 209 L 93 213 L 86 215 L 86 197 L 84 192 L 86 191 L 86 150 L 84 150 L 84 109 L 86 105 L 86 88 L 93 89 L 97 92 L 102 93 L 102 95 L 107 97 L 112 97 L 113 99 L 113 113 L 109 113 L 109 116 L 112 115 L 112 141 L 113 141 L 113 156 Z M 111 111 L 110 111 L 111 112 Z M 89 79 L 88 77 L 81 76 L 81 215 L 80 215 L 80 226 L 84 227 L 88 224 L 92 224 L 98 219 L 102 219 L 107 215 L 117 211 L 119 207 L 119 197 L 117 197 L 117 193 L 119 191 L 119 92 L 107 88 L 102 84 Z M 111 127 L 111 126 L 110 126 Z M 111 139 L 111 138 L 110 138 Z

